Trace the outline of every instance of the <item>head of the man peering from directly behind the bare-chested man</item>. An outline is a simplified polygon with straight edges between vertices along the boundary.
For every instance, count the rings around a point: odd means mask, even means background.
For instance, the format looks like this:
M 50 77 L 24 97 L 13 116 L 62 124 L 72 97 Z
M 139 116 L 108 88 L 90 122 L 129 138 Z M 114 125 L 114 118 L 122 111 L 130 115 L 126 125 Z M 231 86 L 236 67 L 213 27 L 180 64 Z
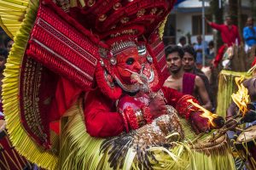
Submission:
M 193 47 L 187 45 L 183 47 L 183 69 L 184 71 L 192 71 L 195 67 L 196 54 Z

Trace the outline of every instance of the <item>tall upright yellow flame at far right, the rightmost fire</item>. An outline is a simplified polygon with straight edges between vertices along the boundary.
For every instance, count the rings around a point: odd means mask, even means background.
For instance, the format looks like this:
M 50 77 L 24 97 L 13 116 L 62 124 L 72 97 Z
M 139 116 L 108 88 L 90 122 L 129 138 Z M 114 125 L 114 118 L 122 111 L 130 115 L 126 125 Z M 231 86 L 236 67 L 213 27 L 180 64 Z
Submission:
M 250 102 L 250 96 L 248 95 L 248 89 L 243 86 L 241 83 L 243 81 L 244 77 L 236 77 L 236 85 L 238 87 L 238 91 L 236 94 L 232 94 L 231 98 L 236 103 L 236 105 L 239 107 L 239 110 L 241 111 L 242 116 L 245 115 L 247 110 L 247 104 Z

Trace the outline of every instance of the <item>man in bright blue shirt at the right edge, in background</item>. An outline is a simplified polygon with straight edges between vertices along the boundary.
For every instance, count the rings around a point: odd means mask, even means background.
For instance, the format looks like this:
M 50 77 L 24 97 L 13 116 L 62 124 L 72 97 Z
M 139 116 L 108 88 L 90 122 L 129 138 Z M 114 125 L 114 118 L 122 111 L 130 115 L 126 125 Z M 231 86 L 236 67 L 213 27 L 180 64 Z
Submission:
M 253 26 L 252 17 L 247 18 L 247 26 L 243 28 L 243 38 L 246 43 L 246 51 L 256 45 L 256 26 Z

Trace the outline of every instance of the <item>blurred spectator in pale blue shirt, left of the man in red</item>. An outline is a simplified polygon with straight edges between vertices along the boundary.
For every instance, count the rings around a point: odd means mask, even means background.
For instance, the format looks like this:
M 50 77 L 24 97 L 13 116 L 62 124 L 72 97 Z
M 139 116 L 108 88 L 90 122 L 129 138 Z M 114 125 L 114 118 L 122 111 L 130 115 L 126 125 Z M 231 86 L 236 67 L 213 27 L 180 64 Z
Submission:
M 205 54 L 207 54 L 207 42 L 202 42 L 201 36 L 196 37 L 197 43 L 195 43 L 195 53 L 196 53 L 196 65 L 201 68 L 202 66 L 202 50 L 205 48 Z M 204 47 L 203 47 L 204 46 Z

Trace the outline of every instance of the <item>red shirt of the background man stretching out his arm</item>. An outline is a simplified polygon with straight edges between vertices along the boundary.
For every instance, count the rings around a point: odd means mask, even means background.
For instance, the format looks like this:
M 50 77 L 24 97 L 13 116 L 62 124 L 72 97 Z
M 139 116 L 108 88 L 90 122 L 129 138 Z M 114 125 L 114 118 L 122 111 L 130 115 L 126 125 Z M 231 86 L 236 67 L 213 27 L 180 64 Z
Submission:
M 210 26 L 212 26 L 212 28 L 221 32 L 222 41 L 228 44 L 228 46 L 231 46 L 232 43 L 236 43 L 236 38 L 237 38 L 238 44 L 240 44 L 241 39 L 239 36 L 237 26 L 232 25 L 231 29 L 229 29 L 229 26 L 218 25 L 214 22 L 212 22 Z

